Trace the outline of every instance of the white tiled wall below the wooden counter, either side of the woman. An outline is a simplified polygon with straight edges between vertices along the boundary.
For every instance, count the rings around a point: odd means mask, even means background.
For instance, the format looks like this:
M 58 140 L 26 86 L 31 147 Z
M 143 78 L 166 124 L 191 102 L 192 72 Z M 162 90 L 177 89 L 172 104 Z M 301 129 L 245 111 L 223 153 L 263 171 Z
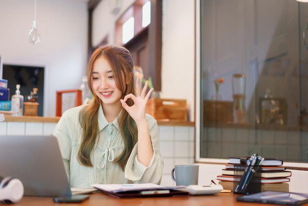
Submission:
M 0 122 L 0 135 L 51 135 L 57 123 Z M 194 127 L 159 126 L 160 153 L 164 159 L 162 185 L 171 186 L 175 165 L 194 163 Z

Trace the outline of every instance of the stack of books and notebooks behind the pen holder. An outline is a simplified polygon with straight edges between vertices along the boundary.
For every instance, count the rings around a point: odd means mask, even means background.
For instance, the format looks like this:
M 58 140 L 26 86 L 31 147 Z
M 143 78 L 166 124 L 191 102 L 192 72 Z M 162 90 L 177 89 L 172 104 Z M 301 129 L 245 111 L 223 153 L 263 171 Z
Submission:
M 225 165 L 222 169 L 221 175 L 217 176 L 219 184 L 222 185 L 223 189 L 233 191 L 237 183 L 240 181 L 240 175 L 244 174 L 246 166 L 246 160 L 249 157 L 230 157 L 229 164 Z M 265 158 L 261 164 L 260 170 L 260 181 L 261 181 L 261 192 L 263 191 L 278 191 L 278 192 L 289 192 L 290 176 L 291 171 L 287 171 L 282 166 L 283 161 L 273 158 Z M 236 175 L 235 175 L 236 174 Z

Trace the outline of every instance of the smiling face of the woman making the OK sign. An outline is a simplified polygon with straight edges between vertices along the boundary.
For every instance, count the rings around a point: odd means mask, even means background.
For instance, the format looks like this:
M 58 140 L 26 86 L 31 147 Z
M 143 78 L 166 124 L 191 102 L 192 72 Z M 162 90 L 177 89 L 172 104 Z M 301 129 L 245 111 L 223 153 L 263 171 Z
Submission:
M 121 90 L 116 86 L 115 77 L 110 64 L 105 57 L 99 57 L 93 63 L 92 88 L 102 105 L 121 106 Z

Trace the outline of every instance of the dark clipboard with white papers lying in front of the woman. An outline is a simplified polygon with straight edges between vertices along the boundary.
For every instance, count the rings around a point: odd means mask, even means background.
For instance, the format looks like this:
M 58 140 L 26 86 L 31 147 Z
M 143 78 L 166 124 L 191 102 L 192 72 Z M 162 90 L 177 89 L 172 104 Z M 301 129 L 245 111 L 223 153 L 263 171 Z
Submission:
M 133 198 L 133 197 L 174 197 L 188 196 L 187 191 L 178 190 L 185 186 L 169 186 L 165 187 L 153 183 L 140 184 L 93 184 L 92 187 L 101 192 L 117 198 Z

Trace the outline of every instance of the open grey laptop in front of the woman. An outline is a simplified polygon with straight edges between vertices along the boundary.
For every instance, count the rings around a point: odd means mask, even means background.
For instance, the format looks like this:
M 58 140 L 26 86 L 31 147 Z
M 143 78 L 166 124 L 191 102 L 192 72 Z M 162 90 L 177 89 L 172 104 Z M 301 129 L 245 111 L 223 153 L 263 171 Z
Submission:
M 54 136 L 0 136 L 0 176 L 20 179 L 25 196 L 59 197 L 95 191 L 74 188 L 72 193 Z

